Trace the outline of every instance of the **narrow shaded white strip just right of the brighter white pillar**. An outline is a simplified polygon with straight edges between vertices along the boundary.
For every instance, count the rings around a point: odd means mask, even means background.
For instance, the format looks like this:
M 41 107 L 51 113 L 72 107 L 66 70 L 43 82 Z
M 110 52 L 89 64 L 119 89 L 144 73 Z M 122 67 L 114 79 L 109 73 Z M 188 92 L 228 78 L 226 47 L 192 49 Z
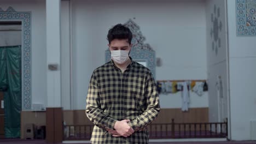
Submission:
M 61 1 L 61 106 L 72 110 L 71 1 Z

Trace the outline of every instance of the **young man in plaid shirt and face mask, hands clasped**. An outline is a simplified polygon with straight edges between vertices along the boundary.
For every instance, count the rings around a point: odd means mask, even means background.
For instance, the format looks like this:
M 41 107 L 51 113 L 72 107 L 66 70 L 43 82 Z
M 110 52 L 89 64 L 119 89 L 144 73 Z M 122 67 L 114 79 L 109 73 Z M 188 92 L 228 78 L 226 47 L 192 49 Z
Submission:
M 148 143 L 146 127 L 160 111 L 153 75 L 129 57 L 129 28 L 118 24 L 107 37 L 112 60 L 94 70 L 86 98 L 91 143 Z

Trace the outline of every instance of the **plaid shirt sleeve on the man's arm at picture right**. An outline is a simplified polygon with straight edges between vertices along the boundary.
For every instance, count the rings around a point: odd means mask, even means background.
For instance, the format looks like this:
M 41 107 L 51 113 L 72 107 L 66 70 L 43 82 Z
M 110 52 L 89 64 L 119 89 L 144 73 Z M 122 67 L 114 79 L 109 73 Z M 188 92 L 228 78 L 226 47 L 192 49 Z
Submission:
M 159 95 L 152 73 L 148 74 L 146 80 L 145 97 L 147 109 L 129 123 L 130 127 L 135 131 L 146 129 L 147 126 L 152 123 L 156 117 L 158 117 L 160 112 Z

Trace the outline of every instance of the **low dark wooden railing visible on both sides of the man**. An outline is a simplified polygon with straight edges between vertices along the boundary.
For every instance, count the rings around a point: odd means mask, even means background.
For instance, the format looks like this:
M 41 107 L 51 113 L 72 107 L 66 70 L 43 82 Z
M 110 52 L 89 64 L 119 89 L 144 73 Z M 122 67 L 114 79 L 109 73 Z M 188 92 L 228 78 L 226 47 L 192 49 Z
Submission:
M 66 125 L 65 140 L 90 140 L 94 125 Z M 218 138 L 228 136 L 228 121 L 223 123 L 152 123 L 149 139 Z

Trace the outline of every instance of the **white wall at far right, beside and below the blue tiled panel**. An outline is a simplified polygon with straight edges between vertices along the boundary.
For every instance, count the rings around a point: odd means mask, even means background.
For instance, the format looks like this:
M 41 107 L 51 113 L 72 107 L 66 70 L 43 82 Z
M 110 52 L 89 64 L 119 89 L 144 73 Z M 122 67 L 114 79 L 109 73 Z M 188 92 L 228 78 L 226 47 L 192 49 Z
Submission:
M 236 1 L 228 0 L 231 139 L 250 140 L 256 119 L 256 40 L 236 35 Z

